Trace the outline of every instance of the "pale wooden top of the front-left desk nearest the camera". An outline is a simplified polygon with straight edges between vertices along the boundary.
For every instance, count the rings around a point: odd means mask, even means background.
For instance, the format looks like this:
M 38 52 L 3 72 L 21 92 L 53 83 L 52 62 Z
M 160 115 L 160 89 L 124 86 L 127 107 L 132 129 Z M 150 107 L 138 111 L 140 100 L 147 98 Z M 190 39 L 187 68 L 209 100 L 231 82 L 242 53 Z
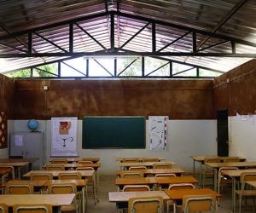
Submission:
M 1 204 L 51 204 L 61 206 L 72 204 L 74 193 L 68 194 L 4 194 L 0 195 Z

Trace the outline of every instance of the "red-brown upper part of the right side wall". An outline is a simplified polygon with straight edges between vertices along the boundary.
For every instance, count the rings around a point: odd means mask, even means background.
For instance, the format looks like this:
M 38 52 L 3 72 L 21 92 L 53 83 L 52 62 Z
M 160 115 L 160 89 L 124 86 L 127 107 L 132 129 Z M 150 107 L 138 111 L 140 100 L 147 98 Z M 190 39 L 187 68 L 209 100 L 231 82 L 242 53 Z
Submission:
M 236 67 L 214 79 L 215 110 L 228 109 L 230 116 L 255 114 L 256 111 L 256 60 Z

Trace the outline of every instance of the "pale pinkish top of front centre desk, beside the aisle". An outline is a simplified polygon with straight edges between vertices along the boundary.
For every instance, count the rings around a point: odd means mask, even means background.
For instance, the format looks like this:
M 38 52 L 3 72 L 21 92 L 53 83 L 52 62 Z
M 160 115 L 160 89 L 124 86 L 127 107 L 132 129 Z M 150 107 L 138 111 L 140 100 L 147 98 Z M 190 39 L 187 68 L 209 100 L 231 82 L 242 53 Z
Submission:
M 141 197 L 162 197 L 163 199 L 170 199 L 163 191 L 150 192 L 110 192 L 108 193 L 109 202 L 128 202 L 129 199 Z

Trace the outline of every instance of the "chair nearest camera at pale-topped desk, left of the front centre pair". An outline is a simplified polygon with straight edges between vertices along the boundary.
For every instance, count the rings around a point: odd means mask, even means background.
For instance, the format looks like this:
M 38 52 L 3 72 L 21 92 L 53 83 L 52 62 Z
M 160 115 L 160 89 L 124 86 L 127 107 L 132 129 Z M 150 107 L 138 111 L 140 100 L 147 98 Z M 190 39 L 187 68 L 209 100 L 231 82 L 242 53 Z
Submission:
M 128 213 L 163 213 L 164 201 L 161 197 L 134 198 L 128 201 Z

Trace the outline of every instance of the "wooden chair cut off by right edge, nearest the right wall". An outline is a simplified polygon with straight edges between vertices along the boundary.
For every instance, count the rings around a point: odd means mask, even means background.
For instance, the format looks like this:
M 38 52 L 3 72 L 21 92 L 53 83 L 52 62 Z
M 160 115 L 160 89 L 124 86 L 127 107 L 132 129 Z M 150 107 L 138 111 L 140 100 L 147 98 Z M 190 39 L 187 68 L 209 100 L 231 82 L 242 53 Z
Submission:
M 256 190 L 246 189 L 246 181 L 256 181 L 256 172 L 241 173 L 241 177 L 240 177 L 241 190 L 236 190 L 236 194 L 239 197 L 239 213 L 241 213 L 241 199 L 242 198 L 253 199 L 253 210 L 255 209 L 255 206 L 254 206 L 255 200 L 254 199 L 256 199 Z

